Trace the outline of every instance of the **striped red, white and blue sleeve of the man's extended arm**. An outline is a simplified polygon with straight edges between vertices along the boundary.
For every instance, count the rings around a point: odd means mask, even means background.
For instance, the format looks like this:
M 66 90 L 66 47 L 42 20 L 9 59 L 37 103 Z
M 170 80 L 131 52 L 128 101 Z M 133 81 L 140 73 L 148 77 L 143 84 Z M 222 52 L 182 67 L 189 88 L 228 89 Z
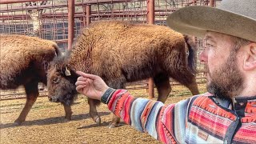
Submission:
M 124 122 L 159 141 L 184 143 L 189 101 L 187 99 L 165 106 L 162 102 L 134 98 L 127 90 L 115 90 L 107 105 Z

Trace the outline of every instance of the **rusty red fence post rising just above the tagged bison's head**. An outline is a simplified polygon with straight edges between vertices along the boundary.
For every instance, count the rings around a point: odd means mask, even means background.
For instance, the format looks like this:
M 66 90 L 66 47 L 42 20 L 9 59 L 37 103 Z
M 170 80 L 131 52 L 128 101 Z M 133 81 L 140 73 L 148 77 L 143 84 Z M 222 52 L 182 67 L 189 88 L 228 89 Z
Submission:
M 68 50 L 72 48 L 74 40 L 74 0 L 68 0 Z

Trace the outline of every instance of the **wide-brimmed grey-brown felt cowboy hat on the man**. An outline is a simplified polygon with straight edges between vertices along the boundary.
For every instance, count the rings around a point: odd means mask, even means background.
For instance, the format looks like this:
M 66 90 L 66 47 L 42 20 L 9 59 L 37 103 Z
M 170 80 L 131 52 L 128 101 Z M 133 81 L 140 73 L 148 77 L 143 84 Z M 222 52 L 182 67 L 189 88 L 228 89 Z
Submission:
M 256 42 L 256 0 L 222 0 L 218 8 L 186 6 L 170 14 L 167 25 L 199 38 L 214 31 Z

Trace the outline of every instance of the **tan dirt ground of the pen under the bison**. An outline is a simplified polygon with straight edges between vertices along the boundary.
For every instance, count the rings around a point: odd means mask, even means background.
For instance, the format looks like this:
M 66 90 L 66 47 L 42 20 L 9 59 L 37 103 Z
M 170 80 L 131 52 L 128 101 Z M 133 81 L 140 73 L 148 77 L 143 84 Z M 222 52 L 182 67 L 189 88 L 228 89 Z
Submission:
M 199 85 L 201 93 L 205 85 Z M 155 90 L 156 91 L 156 90 Z M 136 97 L 146 98 L 146 90 L 130 90 Z M 143 97 L 144 96 L 144 97 Z M 184 86 L 174 86 L 166 104 L 190 97 Z M 156 99 L 156 98 L 154 98 Z M 49 102 L 46 97 L 38 98 L 21 126 L 14 126 L 26 99 L 0 101 L 0 143 L 160 143 L 150 135 L 138 132 L 122 122 L 122 126 L 109 129 L 112 114 L 106 105 L 98 107 L 102 126 L 90 118 L 87 98 L 79 96 L 72 106 L 71 121 L 64 118 L 64 108 L 59 103 Z

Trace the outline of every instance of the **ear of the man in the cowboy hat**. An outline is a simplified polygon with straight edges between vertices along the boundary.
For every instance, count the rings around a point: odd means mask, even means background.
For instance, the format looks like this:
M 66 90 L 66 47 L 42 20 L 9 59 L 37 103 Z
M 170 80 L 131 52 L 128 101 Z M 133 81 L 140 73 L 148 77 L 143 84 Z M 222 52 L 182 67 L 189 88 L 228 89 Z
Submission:
M 246 58 L 244 60 L 244 70 L 256 70 L 256 42 L 252 42 L 244 47 L 246 49 Z

